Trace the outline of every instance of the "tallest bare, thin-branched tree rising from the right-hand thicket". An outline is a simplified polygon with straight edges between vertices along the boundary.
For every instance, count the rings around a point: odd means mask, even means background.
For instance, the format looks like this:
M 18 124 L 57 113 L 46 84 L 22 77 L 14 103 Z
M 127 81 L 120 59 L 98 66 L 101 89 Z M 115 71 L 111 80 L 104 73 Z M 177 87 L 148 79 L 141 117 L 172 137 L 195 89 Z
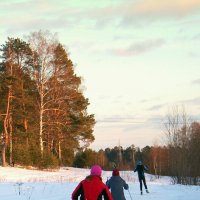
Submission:
M 184 183 L 187 170 L 187 148 L 190 120 L 178 107 L 173 107 L 171 113 L 167 115 L 165 134 L 170 152 L 170 169 L 175 182 Z

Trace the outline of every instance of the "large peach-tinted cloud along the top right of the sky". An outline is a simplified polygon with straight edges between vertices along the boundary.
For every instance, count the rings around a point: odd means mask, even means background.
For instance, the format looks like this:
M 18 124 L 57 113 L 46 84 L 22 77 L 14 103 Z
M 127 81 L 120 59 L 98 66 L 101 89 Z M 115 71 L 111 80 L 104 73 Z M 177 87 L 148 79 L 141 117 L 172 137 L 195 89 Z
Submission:
M 83 16 L 97 25 L 120 24 L 141 26 L 140 20 L 179 19 L 200 9 L 199 0 L 126 0 L 115 5 L 87 10 Z M 121 23 L 120 23 L 121 22 Z

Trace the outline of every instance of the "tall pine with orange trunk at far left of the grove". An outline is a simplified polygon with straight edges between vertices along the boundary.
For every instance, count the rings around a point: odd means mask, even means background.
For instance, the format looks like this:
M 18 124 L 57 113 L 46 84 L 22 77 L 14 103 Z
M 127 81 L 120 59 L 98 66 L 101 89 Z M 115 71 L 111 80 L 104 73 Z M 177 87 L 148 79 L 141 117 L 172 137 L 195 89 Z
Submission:
M 30 81 L 28 72 L 31 51 L 28 44 L 19 38 L 8 38 L 5 45 L 2 45 L 1 51 L 2 161 L 3 166 L 5 166 L 6 149 L 9 147 L 9 162 L 11 163 L 13 160 L 13 139 L 17 138 L 19 132 L 27 131 L 28 90 L 25 88 L 25 82 Z

